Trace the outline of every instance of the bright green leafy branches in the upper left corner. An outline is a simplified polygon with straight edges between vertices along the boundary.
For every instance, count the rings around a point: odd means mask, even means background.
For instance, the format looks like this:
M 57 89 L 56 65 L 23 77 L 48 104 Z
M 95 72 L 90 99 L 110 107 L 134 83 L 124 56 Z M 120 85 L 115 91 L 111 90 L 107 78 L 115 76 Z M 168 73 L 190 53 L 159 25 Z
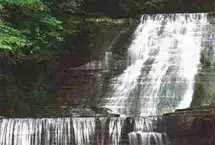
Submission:
M 53 59 L 66 37 L 80 32 L 80 19 L 62 19 L 65 11 L 80 10 L 78 1 L 0 1 L 0 49 L 28 58 Z M 70 19 L 73 16 L 70 16 Z

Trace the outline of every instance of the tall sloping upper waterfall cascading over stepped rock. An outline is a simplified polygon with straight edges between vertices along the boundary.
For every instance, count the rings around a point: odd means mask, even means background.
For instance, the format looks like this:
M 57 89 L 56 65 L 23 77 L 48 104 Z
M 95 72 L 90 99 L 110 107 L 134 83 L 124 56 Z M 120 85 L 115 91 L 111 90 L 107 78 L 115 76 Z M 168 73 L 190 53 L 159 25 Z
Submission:
M 99 106 L 128 116 L 187 108 L 200 63 L 207 14 L 143 15 L 128 48 L 127 68 Z

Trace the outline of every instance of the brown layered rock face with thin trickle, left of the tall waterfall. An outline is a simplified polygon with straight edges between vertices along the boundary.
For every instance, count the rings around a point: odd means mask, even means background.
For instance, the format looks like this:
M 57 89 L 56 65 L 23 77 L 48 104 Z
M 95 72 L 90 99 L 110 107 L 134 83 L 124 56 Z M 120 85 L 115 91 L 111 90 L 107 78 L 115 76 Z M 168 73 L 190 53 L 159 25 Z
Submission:
M 79 108 L 96 105 L 108 78 L 120 73 L 125 66 L 126 45 L 134 25 L 100 28 L 78 46 L 83 51 L 67 56 L 69 61 L 66 62 L 72 65 L 63 64 L 58 104 Z

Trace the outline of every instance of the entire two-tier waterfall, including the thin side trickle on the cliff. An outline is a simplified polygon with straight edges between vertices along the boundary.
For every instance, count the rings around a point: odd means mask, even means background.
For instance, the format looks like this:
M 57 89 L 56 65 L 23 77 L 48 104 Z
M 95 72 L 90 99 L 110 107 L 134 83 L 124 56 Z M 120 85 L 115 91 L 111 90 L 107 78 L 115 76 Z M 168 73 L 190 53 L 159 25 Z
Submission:
M 98 104 L 120 117 L 1 119 L 0 145 L 170 145 L 158 116 L 190 106 L 207 16 L 141 17 L 127 50 L 126 69 L 110 80 L 116 81 Z M 120 35 L 112 39 L 101 61 L 74 70 L 111 73 L 111 49 Z

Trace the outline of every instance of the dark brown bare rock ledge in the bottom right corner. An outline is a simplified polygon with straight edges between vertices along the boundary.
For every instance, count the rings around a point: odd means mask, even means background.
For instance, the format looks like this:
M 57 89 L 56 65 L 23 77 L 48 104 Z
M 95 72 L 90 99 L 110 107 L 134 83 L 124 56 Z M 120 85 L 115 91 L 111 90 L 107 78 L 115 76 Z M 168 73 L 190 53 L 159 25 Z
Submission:
M 215 114 L 213 106 L 176 110 L 164 115 L 172 145 L 214 145 Z

